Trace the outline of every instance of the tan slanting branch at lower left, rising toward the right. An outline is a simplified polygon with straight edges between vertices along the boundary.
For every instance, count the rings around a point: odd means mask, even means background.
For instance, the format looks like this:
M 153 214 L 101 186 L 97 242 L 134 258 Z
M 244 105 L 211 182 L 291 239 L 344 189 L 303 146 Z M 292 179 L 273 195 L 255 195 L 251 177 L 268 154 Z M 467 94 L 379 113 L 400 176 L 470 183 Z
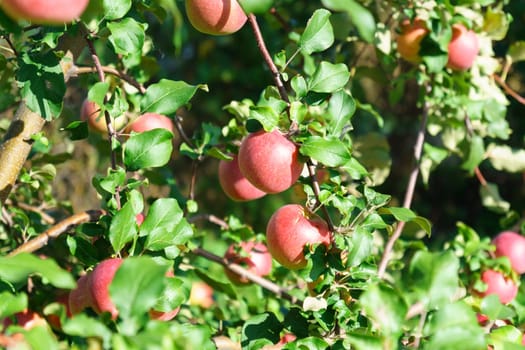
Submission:
M 51 239 L 56 239 L 61 234 L 67 232 L 74 226 L 80 225 L 85 222 L 97 221 L 102 215 L 103 210 L 88 210 L 82 213 L 78 213 L 68 217 L 67 219 L 60 221 L 58 224 L 47 229 L 44 233 L 36 236 L 35 238 L 25 242 L 15 250 L 11 251 L 8 256 L 13 256 L 20 253 L 32 253 L 43 247 L 45 247 Z

